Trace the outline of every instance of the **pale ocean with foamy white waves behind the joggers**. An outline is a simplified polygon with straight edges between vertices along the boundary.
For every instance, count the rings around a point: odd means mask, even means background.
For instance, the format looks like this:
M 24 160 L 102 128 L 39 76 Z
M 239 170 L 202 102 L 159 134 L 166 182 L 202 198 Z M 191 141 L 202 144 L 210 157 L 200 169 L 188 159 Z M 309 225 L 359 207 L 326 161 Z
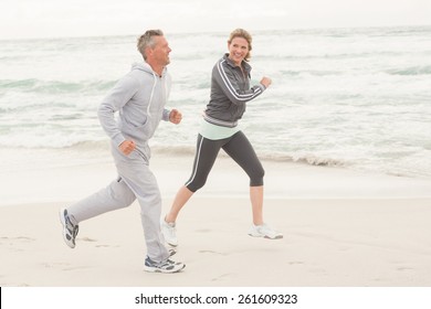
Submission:
M 183 121 L 161 122 L 154 151 L 193 152 L 228 34 L 166 33 L 168 107 Z M 252 35 L 253 83 L 273 85 L 248 104 L 241 127 L 262 159 L 431 179 L 431 26 Z M 1 40 L 0 150 L 105 149 L 96 109 L 141 61 L 136 38 Z

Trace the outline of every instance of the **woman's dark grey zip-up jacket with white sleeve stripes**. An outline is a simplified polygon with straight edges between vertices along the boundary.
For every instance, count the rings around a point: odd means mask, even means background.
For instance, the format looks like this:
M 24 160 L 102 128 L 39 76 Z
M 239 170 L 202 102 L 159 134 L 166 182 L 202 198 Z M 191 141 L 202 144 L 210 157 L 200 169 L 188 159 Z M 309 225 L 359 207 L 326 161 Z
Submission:
M 265 90 L 262 84 L 250 88 L 251 66 L 242 62 L 242 70 L 225 54 L 212 68 L 211 96 L 203 115 L 208 122 L 233 128 L 245 111 L 245 103 Z

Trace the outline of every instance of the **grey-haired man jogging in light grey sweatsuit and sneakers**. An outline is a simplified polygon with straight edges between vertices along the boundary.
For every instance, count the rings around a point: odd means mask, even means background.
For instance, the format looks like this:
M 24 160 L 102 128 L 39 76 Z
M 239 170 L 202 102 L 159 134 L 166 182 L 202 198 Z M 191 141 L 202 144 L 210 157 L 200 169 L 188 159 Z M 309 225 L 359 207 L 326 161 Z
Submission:
M 170 90 L 170 47 L 160 30 L 148 30 L 138 39 L 144 62 L 134 64 L 120 78 L 98 108 L 101 125 L 112 142 L 112 154 L 118 178 L 107 188 L 60 210 L 63 238 L 75 247 L 78 223 L 96 215 L 129 206 L 135 199 L 140 205 L 141 224 L 147 245 L 144 269 L 176 273 L 186 265 L 169 259 L 171 253 L 160 232 L 161 196 L 155 175 L 148 168 L 148 140 L 161 119 L 181 121 L 181 113 L 167 110 Z M 114 114 L 118 111 L 118 120 Z

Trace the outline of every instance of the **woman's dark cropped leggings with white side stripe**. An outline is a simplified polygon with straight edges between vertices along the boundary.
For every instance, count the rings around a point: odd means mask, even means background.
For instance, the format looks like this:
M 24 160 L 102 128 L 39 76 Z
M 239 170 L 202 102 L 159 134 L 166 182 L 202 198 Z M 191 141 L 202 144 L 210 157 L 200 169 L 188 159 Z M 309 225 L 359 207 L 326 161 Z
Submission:
M 186 187 L 196 192 L 201 189 L 210 173 L 220 149 L 223 149 L 250 177 L 250 187 L 263 185 L 265 171 L 249 139 L 242 131 L 233 136 L 211 140 L 198 135 L 197 150 L 195 154 L 193 170 Z

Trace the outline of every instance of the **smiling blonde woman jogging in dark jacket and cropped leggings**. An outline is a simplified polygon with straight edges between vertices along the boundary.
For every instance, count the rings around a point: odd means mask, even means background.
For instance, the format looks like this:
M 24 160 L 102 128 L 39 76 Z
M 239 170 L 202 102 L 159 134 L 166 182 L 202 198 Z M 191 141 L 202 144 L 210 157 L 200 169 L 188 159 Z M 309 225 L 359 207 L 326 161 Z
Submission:
M 245 104 L 261 95 L 271 85 L 271 79 L 263 77 L 260 84 L 250 87 L 251 66 L 248 61 L 252 38 L 249 32 L 234 30 L 228 40 L 228 50 L 229 53 L 212 70 L 211 97 L 198 135 L 191 177 L 180 188 L 169 213 L 161 220 L 161 231 L 171 246 L 178 245 L 175 223 L 180 210 L 204 185 L 221 148 L 250 177 L 253 224 L 249 235 L 271 239 L 283 237 L 263 222 L 264 170 L 250 141 L 236 126 L 245 111 Z

